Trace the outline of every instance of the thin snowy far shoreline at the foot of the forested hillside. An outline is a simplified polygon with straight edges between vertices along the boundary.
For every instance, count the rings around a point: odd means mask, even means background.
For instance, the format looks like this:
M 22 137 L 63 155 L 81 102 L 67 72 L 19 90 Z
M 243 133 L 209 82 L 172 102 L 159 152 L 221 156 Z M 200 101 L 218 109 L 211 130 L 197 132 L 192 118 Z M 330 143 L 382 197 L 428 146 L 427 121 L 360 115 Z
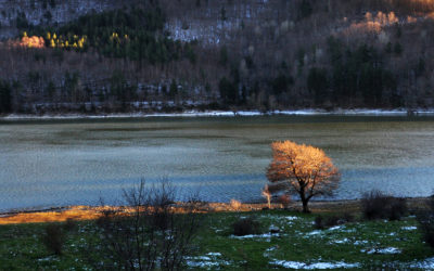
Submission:
M 253 116 L 434 116 L 434 108 L 429 109 L 342 109 L 334 111 L 305 108 L 294 111 L 186 111 L 182 113 L 113 113 L 113 114 L 10 114 L 0 120 L 51 120 L 51 119 L 105 119 L 105 118 L 151 118 L 151 117 L 253 117 Z

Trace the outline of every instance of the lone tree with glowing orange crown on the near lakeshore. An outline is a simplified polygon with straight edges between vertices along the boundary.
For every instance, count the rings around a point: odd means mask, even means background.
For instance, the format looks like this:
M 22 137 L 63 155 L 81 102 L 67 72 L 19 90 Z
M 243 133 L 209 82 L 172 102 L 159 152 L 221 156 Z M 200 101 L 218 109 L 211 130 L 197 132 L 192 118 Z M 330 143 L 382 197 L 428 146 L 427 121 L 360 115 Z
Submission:
M 292 141 L 273 142 L 271 149 L 267 178 L 273 183 L 272 190 L 297 193 L 304 212 L 309 212 L 311 197 L 331 195 L 337 188 L 341 175 L 322 150 Z

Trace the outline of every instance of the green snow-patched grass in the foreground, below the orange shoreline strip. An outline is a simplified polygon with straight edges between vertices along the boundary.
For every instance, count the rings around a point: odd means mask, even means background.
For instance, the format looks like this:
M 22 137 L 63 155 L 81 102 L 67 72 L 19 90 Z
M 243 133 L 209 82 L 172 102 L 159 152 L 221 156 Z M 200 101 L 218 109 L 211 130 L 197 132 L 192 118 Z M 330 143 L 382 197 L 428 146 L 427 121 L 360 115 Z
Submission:
M 283 210 L 255 212 L 217 212 L 203 215 L 203 227 L 194 241 L 195 253 L 190 263 L 212 262 L 212 270 L 283 269 L 275 260 L 305 263 L 345 262 L 366 269 L 411 269 L 411 263 L 434 256 L 421 241 L 414 218 L 400 221 L 357 221 L 324 230 L 314 228 L 316 215 Z M 254 216 L 266 233 L 271 224 L 281 230 L 279 236 L 234 238 L 231 224 L 242 217 Z M 289 219 L 292 218 L 292 219 Z M 296 217 L 294 219 L 294 217 Z M 0 270 L 82 270 L 87 269 L 82 247 L 94 237 L 92 221 L 78 222 L 69 231 L 62 256 L 53 256 L 41 242 L 43 223 L 0 227 Z M 356 244 L 355 244 L 356 243 Z M 394 247 L 399 254 L 368 254 Z M 218 254 L 217 254 L 218 253 Z M 194 257 L 201 257 L 195 258 Z M 209 259 L 205 258 L 208 257 Z M 201 269 L 201 267 L 191 267 Z

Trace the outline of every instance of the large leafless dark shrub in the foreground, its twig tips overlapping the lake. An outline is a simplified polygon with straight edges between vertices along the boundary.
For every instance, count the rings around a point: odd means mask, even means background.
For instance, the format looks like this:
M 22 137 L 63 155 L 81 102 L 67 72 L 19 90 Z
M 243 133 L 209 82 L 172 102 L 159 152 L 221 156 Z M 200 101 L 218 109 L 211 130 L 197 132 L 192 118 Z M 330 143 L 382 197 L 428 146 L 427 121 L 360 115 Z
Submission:
M 127 206 L 104 210 L 90 248 L 97 269 L 181 270 L 200 227 L 194 201 L 176 204 L 177 190 L 163 181 L 124 192 Z M 98 259 L 98 260 L 94 260 Z

